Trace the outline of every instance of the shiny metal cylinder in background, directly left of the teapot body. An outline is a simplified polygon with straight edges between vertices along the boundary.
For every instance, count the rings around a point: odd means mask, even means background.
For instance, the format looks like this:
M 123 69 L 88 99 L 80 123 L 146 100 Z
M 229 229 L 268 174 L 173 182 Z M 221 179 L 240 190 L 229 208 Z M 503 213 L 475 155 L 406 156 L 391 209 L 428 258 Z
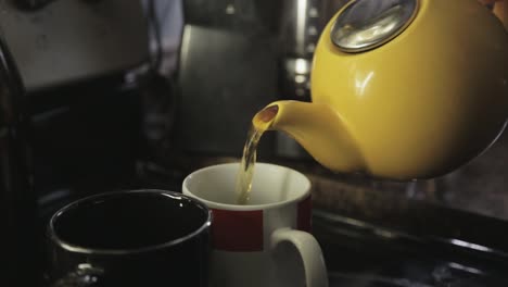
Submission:
M 344 2 L 344 1 L 341 1 Z M 310 100 L 310 70 L 317 40 L 330 16 L 342 4 L 330 0 L 285 0 L 279 22 L 279 97 Z M 278 133 L 277 154 L 309 159 L 292 138 Z

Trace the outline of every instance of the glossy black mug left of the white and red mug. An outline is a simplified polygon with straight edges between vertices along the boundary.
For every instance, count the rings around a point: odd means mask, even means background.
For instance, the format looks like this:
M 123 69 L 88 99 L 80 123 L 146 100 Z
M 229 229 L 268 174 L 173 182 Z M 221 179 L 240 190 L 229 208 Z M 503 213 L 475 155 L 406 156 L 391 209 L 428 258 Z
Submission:
M 48 225 L 52 286 L 207 286 L 209 210 L 163 190 L 77 200 Z

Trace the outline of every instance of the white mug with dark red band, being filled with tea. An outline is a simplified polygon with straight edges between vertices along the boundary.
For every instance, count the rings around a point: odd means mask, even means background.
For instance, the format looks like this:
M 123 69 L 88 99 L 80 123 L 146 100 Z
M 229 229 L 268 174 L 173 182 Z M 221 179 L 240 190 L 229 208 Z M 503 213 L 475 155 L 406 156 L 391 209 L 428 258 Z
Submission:
M 236 203 L 239 163 L 188 175 L 185 195 L 212 210 L 211 286 L 327 287 L 321 248 L 310 232 L 309 179 L 284 166 L 256 163 L 250 201 Z

